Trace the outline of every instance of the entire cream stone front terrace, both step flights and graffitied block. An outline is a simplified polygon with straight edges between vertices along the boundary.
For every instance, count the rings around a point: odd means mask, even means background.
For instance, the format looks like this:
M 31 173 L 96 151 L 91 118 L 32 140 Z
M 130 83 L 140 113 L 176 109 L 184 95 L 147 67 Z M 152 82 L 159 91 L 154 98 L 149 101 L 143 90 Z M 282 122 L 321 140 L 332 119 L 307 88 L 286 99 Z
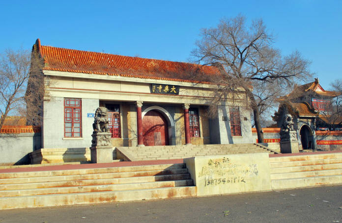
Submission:
M 229 165 L 222 166 L 223 169 L 218 168 L 224 171 L 218 171 L 218 174 L 223 174 L 223 177 L 217 178 L 226 179 L 221 179 L 221 182 L 218 179 L 217 182 L 220 182 L 220 186 L 222 186 L 222 182 L 225 182 L 225 185 L 227 183 L 227 187 L 229 187 L 231 182 L 236 183 L 239 181 L 237 183 L 245 184 L 244 181 L 261 180 L 262 184 L 258 184 L 259 188 L 238 187 L 238 191 L 231 191 L 224 186 L 219 190 L 211 190 L 209 194 L 244 193 L 254 190 L 284 190 L 342 184 L 342 151 L 298 154 L 262 153 L 262 159 L 256 161 L 255 158 L 258 156 L 261 156 L 261 154 L 228 154 L 224 158 L 221 157 L 222 164 L 226 164 L 228 159 L 232 165 L 240 165 L 241 168 L 237 168 L 236 171 L 242 175 L 239 179 L 228 176 L 227 168 L 228 170 L 230 168 L 231 173 L 235 171 L 235 169 L 231 169 L 232 166 L 228 163 Z M 221 164 L 215 164 L 218 160 L 214 161 L 213 157 L 200 156 L 200 159 L 211 159 L 213 163 L 210 162 L 210 165 L 221 166 Z M 244 162 L 245 160 L 250 162 Z M 204 164 L 209 165 L 209 161 L 204 162 Z M 248 170 L 248 168 L 251 168 L 251 164 L 253 171 Z M 194 185 L 193 180 L 198 177 L 196 174 L 200 172 L 196 173 L 196 171 L 191 170 L 194 167 L 197 168 L 196 162 L 193 167 L 190 166 L 191 164 L 188 165 L 186 166 L 183 159 L 177 159 L 0 169 L 0 209 L 147 200 L 207 194 L 203 193 L 203 191 L 200 192 L 198 186 Z M 244 165 L 247 165 L 248 168 L 246 169 Z M 262 167 L 268 166 L 269 170 L 263 170 Z M 267 173 L 268 171 L 269 173 Z M 226 172 L 227 176 L 225 175 Z M 261 174 L 260 178 L 254 177 L 255 179 L 252 179 L 253 177 L 250 174 L 256 175 L 256 173 L 258 176 Z M 203 176 L 211 177 L 211 172 L 207 171 Z M 214 176 L 216 175 L 212 175 L 212 177 Z M 201 177 L 200 174 L 199 177 Z M 212 186 L 211 180 L 214 179 L 210 179 L 210 187 Z M 197 182 L 206 187 L 205 182 L 201 181 L 200 178 Z M 271 185 L 271 188 L 269 185 Z

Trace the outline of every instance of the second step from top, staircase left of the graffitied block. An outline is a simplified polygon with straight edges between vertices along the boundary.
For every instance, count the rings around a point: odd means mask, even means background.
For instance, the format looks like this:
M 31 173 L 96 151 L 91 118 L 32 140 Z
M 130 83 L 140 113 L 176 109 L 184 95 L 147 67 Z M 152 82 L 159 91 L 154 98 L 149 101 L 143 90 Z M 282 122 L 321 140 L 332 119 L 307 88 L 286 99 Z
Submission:
M 68 181 L 68 180 L 90 180 L 90 179 L 110 179 L 122 177 L 137 177 L 137 176 L 155 176 L 167 174 L 182 174 L 187 173 L 188 169 L 159 169 L 149 171 L 136 172 L 114 172 L 114 173 L 91 173 L 91 174 L 77 174 L 77 175 L 57 175 L 57 176 L 35 176 L 35 177 L 19 177 L 0 179 L 1 184 L 21 184 L 21 183 L 37 183 L 37 182 L 54 182 L 54 181 Z

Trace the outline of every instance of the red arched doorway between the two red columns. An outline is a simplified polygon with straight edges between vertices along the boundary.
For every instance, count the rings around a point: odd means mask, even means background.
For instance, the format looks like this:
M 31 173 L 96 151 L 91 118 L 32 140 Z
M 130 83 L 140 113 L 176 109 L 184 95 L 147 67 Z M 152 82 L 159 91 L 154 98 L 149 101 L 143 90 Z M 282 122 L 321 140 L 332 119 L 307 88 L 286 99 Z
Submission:
M 143 116 L 142 137 L 146 146 L 169 145 L 168 122 L 160 112 L 151 110 Z

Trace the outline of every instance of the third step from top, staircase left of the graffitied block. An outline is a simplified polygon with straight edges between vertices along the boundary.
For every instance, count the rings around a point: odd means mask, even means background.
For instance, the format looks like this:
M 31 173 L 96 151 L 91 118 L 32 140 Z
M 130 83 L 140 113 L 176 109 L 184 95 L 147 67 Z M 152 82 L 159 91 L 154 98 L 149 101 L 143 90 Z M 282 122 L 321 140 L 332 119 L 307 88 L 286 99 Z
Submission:
M 52 187 L 105 185 L 105 184 L 127 184 L 127 183 L 137 183 L 137 182 L 154 182 L 154 181 L 185 180 L 185 179 L 190 179 L 190 173 L 157 175 L 157 176 L 122 177 L 122 178 L 110 178 L 110 179 L 66 180 L 66 181 L 36 182 L 36 183 L 22 183 L 22 184 L 2 184 L 0 185 L 0 191 L 1 190 L 35 189 L 35 188 L 52 188 Z

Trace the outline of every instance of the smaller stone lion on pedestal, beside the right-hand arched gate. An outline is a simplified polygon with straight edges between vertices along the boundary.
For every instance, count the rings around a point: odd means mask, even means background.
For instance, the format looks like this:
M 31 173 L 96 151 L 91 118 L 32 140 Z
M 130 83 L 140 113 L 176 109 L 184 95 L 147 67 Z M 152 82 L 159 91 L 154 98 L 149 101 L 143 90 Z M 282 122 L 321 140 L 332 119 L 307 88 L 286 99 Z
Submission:
M 280 128 L 280 152 L 299 153 L 297 131 L 293 130 L 293 118 L 285 114 L 283 125 Z

